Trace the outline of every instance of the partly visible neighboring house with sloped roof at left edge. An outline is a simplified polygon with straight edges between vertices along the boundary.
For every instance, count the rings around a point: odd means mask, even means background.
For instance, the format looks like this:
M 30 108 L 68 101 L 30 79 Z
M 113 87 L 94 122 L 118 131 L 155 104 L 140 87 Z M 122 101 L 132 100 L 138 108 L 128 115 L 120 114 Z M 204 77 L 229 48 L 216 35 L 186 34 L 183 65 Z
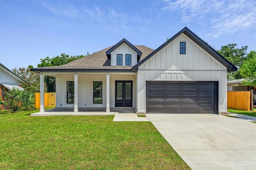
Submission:
M 0 97 L 5 96 L 6 92 L 17 88 L 24 90 L 22 85 L 30 85 L 26 80 L 15 74 L 12 70 L 0 63 Z

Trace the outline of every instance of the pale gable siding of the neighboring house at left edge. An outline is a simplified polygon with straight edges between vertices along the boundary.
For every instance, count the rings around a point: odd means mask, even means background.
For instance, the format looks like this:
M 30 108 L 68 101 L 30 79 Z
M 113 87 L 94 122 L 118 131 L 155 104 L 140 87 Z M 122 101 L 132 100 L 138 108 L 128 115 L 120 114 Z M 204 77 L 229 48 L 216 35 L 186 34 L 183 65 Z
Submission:
M 4 68 L 3 68 L 4 69 Z M 24 84 L 21 81 L 18 81 L 17 78 L 14 77 L 14 75 L 11 75 L 12 73 L 5 72 L 2 70 L 2 67 L 0 67 L 0 84 L 12 84 L 12 85 L 22 85 Z

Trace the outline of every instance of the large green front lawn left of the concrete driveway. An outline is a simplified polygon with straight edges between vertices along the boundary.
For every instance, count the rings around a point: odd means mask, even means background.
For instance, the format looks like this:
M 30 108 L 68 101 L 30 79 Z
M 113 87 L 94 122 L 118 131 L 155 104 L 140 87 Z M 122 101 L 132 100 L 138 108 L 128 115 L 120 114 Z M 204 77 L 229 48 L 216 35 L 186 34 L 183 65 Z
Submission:
M 188 170 L 150 122 L 0 113 L 0 169 Z

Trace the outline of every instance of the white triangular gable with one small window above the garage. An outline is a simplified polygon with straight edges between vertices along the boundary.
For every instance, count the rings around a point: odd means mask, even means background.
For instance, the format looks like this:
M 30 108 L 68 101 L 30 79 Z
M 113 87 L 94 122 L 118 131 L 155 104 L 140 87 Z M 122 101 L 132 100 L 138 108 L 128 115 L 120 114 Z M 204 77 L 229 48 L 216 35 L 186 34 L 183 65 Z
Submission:
M 180 54 L 180 42 L 186 42 L 186 54 Z M 142 63 L 138 70 L 226 70 L 226 66 L 182 33 Z

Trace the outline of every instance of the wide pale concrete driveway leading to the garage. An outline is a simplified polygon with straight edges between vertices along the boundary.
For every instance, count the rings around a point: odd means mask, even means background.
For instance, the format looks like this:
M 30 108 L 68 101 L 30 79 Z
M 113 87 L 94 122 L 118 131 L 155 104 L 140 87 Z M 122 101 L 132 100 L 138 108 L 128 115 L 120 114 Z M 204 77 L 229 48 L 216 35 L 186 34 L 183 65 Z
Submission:
M 147 114 L 192 170 L 255 169 L 256 123 L 216 114 Z

